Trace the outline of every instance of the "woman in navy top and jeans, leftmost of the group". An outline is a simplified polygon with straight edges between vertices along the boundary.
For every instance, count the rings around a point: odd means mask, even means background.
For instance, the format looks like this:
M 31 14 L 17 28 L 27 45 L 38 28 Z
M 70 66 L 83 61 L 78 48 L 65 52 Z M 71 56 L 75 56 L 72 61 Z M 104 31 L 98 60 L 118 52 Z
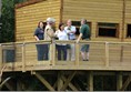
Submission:
M 43 34 L 44 28 L 46 24 L 42 21 L 40 21 L 38 23 L 38 28 L 34 31 L 34 39 L 37 41 L 44 39 L 44 34 Z M 36 44 L 36 47 L 38 52 L 38 61 L 48 60 L 48 44 Z

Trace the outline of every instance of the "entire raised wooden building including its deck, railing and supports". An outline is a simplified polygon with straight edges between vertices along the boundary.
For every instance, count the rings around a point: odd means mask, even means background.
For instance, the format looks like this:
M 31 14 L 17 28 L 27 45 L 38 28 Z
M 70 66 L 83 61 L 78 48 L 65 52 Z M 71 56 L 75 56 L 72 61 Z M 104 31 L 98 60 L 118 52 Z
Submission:
M 91 28 L 91 41 L 36 42 L 33 32 L 38 22 L 49 17 L 57 20 L 56 27 L 71 19 L 77 34 L 80 19 L 85 18 Z M 22 78 L 17 82 L 11 80 L 22 74 L 34 75 L 50 91 L 93 91 L 97 90 L 95 76 L 111 75 L 115 82 L 110 90 L 128 90 L 128 86 L 130 90 L 130 0 L 29 0 L 19 3 L 16 6 L 16 42 L 0 44 L 0 88 L 4 84 L 9 90 L 33 90 L 31 85 L 26 88 Z M 74 62 L 58 61 L 56 43 L 63 42 L 75 45 Z M 50 59 L 38 62 L 36 44 L 41 43 L 50 44 Z M 82 61 L 80 55 L 80 47 L 84 43 L 90 44 L 89 62 Z

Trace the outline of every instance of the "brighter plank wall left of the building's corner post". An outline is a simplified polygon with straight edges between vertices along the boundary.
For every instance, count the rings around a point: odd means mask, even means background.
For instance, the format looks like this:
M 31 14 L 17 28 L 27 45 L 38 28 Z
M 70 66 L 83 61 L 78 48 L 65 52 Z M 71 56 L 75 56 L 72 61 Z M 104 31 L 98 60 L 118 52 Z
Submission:
M 33 41 L 39 21 L 52 17 L 60 21 L 60 0 L 43 0 L 16 9 L 16 41 Z

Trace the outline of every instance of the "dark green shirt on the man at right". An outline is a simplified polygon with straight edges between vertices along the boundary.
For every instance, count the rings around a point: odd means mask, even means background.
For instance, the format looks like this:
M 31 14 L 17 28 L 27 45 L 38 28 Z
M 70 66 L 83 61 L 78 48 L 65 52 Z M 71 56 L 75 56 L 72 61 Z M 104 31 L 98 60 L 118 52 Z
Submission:
M 80 28 L 80 33 L 82 33 L 82 39 L 90 39 L 90 28 L 88 24 L 82 24 Z

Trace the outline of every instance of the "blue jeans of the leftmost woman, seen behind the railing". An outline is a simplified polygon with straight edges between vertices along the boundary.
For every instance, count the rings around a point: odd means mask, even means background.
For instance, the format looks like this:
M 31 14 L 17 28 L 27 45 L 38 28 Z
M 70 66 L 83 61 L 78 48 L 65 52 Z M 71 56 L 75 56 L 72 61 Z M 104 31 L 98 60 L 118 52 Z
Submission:
M 48 44 L 37 44 L 38 61 L 48 60 Z

